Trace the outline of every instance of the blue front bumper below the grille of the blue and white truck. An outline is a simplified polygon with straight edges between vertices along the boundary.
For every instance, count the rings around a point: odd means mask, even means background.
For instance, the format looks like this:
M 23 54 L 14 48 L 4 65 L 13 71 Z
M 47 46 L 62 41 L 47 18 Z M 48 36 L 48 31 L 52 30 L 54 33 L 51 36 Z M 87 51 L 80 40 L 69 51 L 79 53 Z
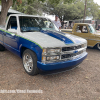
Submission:
M 61 62 L 48 63 L 48 64 L 44 64 L 38 61 L 37 67 L 42 72 L 46 72 L 46 73 L 48 73 L 49 71 L 56 71 L 56 70 L 60 71 L 62 69 L 69 70 L 79 65 L 86 57 L 87 57 L 87 52 L 83 53 L 80 57 L 69 61 L 61 61 Z

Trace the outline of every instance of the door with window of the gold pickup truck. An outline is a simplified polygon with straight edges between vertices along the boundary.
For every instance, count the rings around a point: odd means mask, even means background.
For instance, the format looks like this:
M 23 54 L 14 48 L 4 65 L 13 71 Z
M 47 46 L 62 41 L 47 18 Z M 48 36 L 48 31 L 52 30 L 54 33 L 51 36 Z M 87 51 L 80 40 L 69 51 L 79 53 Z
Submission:
M 89 33 L 87 25 L 77 25 L 73 34 L 86 39 L 88 42 Z

